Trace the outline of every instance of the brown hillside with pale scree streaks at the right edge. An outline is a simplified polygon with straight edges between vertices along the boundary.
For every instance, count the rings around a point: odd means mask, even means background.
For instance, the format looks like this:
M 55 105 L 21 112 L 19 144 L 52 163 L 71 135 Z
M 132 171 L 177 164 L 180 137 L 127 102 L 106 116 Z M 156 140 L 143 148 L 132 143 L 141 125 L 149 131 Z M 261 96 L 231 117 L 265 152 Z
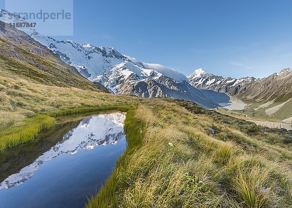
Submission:
M 282 69 L 257 81 L 237 97 L 250 104 L 243 111 L 248 115 L 292 123 L 292 69 Z

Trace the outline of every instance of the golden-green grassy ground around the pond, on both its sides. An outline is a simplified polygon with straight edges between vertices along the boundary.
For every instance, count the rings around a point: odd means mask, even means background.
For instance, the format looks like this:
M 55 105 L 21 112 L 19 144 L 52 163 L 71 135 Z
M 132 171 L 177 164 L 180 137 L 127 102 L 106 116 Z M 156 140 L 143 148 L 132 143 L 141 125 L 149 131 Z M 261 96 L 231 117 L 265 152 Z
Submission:
M 182 100 L 141 99 L 0 76 L 2 149 L 33 139 L 30 130 L 50 128 L 58 115 L 116 106 L 128 111 L 128 149 L 87 207 L 292 206 L 291 133 Z M 19 136 L 19 142 L 7 143 L 11 135 Z

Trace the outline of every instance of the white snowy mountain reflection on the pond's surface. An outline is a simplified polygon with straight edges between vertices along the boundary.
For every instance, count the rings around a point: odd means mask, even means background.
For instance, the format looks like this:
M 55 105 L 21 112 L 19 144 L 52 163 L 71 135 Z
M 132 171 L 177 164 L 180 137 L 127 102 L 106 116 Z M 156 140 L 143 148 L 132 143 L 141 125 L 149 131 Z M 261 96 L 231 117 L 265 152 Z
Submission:
M 83 119 L 77 127 L 63 136 L 62 141 L 39 156 L 32 164 L 2 181 L 0 190 L 23 184 L 36 173 L 41 165 L 64 154 L 74 155 L 80 150 L 92 150 L 99 145 L 116 144 L 120 139 L 125 138 L 125 119 L 126 113 L 120 112 Z

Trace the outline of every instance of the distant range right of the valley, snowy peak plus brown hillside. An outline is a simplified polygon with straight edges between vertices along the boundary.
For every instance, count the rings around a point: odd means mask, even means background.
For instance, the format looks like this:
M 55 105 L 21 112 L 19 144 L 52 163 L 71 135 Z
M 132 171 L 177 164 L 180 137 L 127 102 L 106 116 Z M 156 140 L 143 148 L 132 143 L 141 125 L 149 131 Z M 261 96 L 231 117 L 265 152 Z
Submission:
M 244 113 L 258 118 L 275 118 L 292 122 L 292 69 L 256 79 L 244 77 L 224 78 L 197 69 L 188 76 L 191 84 L 198 89 L 208 89 L 235 96 L 245 102 Z

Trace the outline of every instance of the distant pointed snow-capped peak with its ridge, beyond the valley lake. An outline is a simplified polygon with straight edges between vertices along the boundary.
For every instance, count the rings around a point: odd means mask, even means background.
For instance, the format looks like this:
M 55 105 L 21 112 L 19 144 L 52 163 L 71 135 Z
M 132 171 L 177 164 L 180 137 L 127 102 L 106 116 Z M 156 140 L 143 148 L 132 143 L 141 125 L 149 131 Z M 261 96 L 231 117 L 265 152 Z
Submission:
M 192 86 L 198 89 L 209 89 L 216 92 L 223 92 L 229 95 L 236 95 L 246 91 L 258 79 L 254 77 L 244 77 L 235 79 L 231 77 L 222 77 L 207 73 L 203 69 L 196 69 L 188 76 Z

